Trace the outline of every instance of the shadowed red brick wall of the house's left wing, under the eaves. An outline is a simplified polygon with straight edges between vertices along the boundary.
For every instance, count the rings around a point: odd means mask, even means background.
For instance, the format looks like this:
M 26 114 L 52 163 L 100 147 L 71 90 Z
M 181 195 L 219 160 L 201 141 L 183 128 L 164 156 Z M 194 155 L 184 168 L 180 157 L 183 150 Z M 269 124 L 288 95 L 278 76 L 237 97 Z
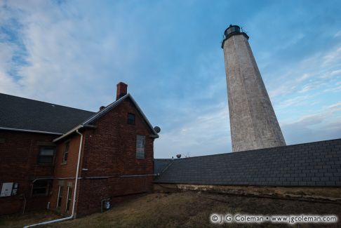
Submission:
M 0 215 L 21 212 L 23 197 L 27 199 L 27 210 L 45 208 L 48 196 L 31 196 L 32 180 L 53 175 L 53 166 L 38 164 L 39 148 L 51 142 L 56 135 L 24 133 L 0 130 L 0 187 L 3 182 L 18 182 L 16 196 L 0 197 Z

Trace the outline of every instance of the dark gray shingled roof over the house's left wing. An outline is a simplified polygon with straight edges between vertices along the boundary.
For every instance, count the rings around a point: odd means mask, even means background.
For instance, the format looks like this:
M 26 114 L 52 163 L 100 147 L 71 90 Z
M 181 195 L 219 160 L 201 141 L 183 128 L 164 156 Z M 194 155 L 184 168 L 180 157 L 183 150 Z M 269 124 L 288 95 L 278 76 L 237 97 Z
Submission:
M 66 133 L 93 116 L 72 107 L 0 93 L 0 127 Z

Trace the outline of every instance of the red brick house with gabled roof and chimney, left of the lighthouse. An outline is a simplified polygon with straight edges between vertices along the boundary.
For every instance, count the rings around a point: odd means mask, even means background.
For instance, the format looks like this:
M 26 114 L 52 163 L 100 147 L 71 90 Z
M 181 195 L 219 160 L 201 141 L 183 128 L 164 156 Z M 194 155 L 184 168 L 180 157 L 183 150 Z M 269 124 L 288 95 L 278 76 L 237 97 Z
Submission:
M 0 107 L 0 214 L 86 215 L 152 188 L 159 135 L 125 83 L 98 112 L 1 93 Z

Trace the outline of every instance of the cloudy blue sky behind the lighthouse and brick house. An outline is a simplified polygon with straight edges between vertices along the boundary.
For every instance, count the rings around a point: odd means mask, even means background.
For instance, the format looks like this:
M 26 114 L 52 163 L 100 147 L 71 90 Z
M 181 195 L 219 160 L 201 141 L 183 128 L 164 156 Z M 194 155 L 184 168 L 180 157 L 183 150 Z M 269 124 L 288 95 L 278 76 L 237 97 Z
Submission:
M 341 138 L 341 1 L 0 0 L 0 93 L 97 112 L 128 83 L 155 158 L 232 152 L 222 34 L 240 25 L 287 145 Z

